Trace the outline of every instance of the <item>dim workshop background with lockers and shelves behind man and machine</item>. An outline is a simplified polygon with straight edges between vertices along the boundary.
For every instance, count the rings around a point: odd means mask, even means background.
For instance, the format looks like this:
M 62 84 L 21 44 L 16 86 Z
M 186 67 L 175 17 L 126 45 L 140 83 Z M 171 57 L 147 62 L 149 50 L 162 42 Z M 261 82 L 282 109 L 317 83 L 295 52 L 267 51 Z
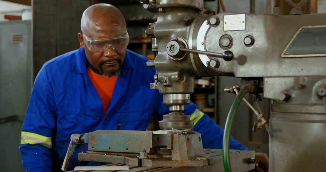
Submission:
M 217 2 L 204 0 L 204 13 L 221 12 Z M 0 171 L 24 171 L 18 146 L 33 80 L 46 61 L 79 48 L 77 34 L 82 12 L 96 3 L 118 7 L 127 22 L 128 49 L 154 59 L 151 38 L 144 33 L 156 16 L 140 4 L 129 0 L 0 0 Z M 288 15 L 290 11 L 282 0 L 227 0 L 224 4 L 227 11 L 239 13 L 272 14 L 274 4 L 279 7 L 281 15 Z M 308 0 L 303 11 L 305 14 L 326 13 L 326 0 Z M 191 100 L 224 127 L 234 95 L 225 93 L 223 89 L 238 83 L 239 79 L 231 77 L 198 77 Z M 267 118 L 270 116 L 270 103 L 263 101 Z M 268 154 L 266 131 L 252 132 L 255 118 L 253 112 L 242 104 L 232 136 L 250 150 Z M 148 129 L 157 127 L 157 121 L 152 119 Z

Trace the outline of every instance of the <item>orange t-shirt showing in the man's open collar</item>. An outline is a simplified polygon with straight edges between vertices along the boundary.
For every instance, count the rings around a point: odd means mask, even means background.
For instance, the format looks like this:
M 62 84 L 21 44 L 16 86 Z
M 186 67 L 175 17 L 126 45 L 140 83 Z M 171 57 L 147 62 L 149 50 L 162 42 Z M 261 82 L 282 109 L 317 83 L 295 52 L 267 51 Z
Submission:
M 108 110 L 109 105 L 110 105 L 114 86 L 118 79 L 118 76 L 114 75 L 114 76 L 107 78 L 104 75 L 99 75 L 99 74 L 95 73 L 89 67 L 87 67 L 87 74 L 88 74 L 88 77 L 92 80 L 93 85 L 103 102 L 103 111 L 104 111 L 104 116 L 105 116 L 106 111 Z

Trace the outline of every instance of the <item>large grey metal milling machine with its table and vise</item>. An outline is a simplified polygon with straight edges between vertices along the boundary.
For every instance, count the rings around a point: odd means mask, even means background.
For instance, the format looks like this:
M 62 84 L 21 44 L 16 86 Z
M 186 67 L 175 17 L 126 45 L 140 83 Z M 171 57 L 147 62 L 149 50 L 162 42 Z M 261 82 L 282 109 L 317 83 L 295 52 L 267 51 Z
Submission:
M 326 14 L 300 15 L 307 0 L 299 4 L 286 0 L 292 8 L 290 16 L 233 12 L 209 16 L 202 14 L 203 0 L 134 1 L 157 15 L 157 22 L 146 30 L 155 37 L 152 50 L 156 52 L 147 66 L 156 68 L 150 87 L 163 94 L 171 113 L 159 122 L 162 131 L 73 135 L 63 169 L 81 143 L 88 143 L 89 151 L 79 153 L 79 160 L 182 166 L 188 171 L 253 169 L 254 151 L 229 151 L 230 130 L 241 100 L 257 115 L 253 130 L 265 125 L 269 131 L 270 171 L 324 169 Z M 202 151 L 200 134 L 188 130 L 193 122 L 182 113 L 196 75 L 242 78 L 239 85 L 225 88 L 237 96 L 226 122 L 223 156 L 220 150 Z M 246 93 L 262 93 L 264 99 L 273 100 L 269 126 L 261 108 L 256 110 L 246 100 Z

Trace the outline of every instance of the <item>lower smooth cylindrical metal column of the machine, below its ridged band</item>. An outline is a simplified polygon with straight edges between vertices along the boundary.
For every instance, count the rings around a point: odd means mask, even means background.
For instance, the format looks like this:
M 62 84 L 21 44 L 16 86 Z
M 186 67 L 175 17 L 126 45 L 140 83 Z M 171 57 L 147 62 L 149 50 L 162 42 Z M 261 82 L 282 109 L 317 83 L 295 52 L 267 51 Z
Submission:
M 272 112 L 270 171 L 323 171 L 325 113 Z

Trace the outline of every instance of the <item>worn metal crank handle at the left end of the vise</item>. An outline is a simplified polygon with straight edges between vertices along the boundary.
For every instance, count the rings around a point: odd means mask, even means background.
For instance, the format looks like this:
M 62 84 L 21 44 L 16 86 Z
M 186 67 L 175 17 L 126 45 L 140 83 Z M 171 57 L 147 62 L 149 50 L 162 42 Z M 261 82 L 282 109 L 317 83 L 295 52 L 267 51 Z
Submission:
M 66 157 L 65 160 L 63 161 L 61 170 L 62 171 L 67 171 L 70 160 L 72 158 L 72 156 L 74 155 L 74 152 L 76 150 L 77 145 L 82 144 L 83 141 L 83 134 L 72 134 L 70 137 L 70 143 L 69 143 L 69 147 L 66 153 Z

